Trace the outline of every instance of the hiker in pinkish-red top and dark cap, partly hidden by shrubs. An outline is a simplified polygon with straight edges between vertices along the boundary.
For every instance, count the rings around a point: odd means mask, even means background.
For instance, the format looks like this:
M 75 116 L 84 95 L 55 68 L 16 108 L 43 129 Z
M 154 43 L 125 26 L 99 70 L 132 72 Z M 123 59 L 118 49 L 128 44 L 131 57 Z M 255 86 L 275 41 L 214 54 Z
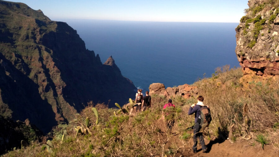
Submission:
M 167 122 L 167 131 L 171 131 L 174 125 L 174 116 L 175 116 L 175 105 L 171 103 L 172 100 L 168 99 L 168 103 L 164 105 L 162 111 L 163 120 L 166 119 Z

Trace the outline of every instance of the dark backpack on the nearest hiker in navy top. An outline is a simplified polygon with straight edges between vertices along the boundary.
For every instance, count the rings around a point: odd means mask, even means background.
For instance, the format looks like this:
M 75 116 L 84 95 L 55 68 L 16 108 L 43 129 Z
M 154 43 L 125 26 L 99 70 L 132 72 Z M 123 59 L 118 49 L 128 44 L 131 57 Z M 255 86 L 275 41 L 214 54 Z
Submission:
M 210 114 L 210 109 L 207 106 L 201 106 L 200 111 L 201 111 L 199 117 L 201 118 L 200 125 L 201 125 L 201 131 L 203 131 L 206 127 L 209 126 L 212 118 Z

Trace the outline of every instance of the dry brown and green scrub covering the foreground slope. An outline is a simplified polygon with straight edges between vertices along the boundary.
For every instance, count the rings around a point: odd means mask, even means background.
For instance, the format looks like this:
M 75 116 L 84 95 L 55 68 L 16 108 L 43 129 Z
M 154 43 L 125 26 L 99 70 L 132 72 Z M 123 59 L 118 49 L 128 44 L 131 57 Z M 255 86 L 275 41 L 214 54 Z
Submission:
M 261 149 L 262 143 L 270 143 L 276 151 L 279 135 L 279 80 L 270 78 L 259 81 L 256 77 L 242 80 L 240 68 L 217 68 L 211 78 L 194 83 L 210 106 L 213 120 L 206 141 L 231 142 L 250 140 L 251 146 Z M 249 80 L 249 81 L 248 81 Z M 32 143 L 23 150 L 14 150 L 4 156 L 162 156 L 185 155 L 193 136 L 194 117 L 187 112 L 196 98 L 173 98 L 176 106 L 175 126 L 166 132 L 162 120 L 162 107 L 166 98 L 152 95 L 152 107 L 134 116 L 113 114 L 117 109 L 104 104 L 94 105 L 99 112 L 99 124 L 91 106 L 86 107 L 69 125 L 58 125 L 43 142 Z M 91 134 L 79 134 L 74 128 L 84 124 L 89 117 Z M 63 135 L 64 134 L 64 135 Z M 64 140 L 61 141 L 62 136 Z M 263 137 L 264 141 L 259 141 Z M 47 138 L 52 138 L 52 153 L 46 149 Z

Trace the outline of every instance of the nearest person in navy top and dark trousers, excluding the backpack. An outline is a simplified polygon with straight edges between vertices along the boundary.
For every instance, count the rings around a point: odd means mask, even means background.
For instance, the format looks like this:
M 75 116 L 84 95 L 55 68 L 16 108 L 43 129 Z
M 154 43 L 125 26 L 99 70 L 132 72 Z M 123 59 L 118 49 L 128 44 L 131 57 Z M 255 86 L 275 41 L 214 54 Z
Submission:
M 195 113 L 195 125 L 194 125 L 194 136 L 193 136 L 193 141 L 194 141 L 194 145 L 193 145 L 193 152 L 197 153 L 197 138 L 199 137 L 200 139 L 200 143 L 201 143 L 201 149 L 202 152 L 206 152 L 206 145 L 204 143 L 204 139 L 202 136 L 202 132 L 199 132 L 201 130 L 201 107 L 205 106 L 203 104 L 203 97 L 202 96 L 198 96 L 197 98 L 197 104 L 193 104 L 191 105 L 191 107 L 189 108 L 188 111 L 188 115 L 192 115 L 193 113 Z

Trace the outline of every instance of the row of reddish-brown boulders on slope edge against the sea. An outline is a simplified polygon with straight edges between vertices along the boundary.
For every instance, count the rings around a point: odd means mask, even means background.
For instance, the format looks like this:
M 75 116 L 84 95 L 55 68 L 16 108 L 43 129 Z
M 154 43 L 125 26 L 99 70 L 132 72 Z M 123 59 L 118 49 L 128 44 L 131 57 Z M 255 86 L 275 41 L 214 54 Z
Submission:
M 182 96 L 183 98 L 197 97 L 198 89 L 197 86 L 190 86 L 187 84 L 179 85 L 178 87 L 167 87 L 162 83 L 153 83 L 149 85 L 149 94 L 163 95 L 166 98 L 175 96 Z

